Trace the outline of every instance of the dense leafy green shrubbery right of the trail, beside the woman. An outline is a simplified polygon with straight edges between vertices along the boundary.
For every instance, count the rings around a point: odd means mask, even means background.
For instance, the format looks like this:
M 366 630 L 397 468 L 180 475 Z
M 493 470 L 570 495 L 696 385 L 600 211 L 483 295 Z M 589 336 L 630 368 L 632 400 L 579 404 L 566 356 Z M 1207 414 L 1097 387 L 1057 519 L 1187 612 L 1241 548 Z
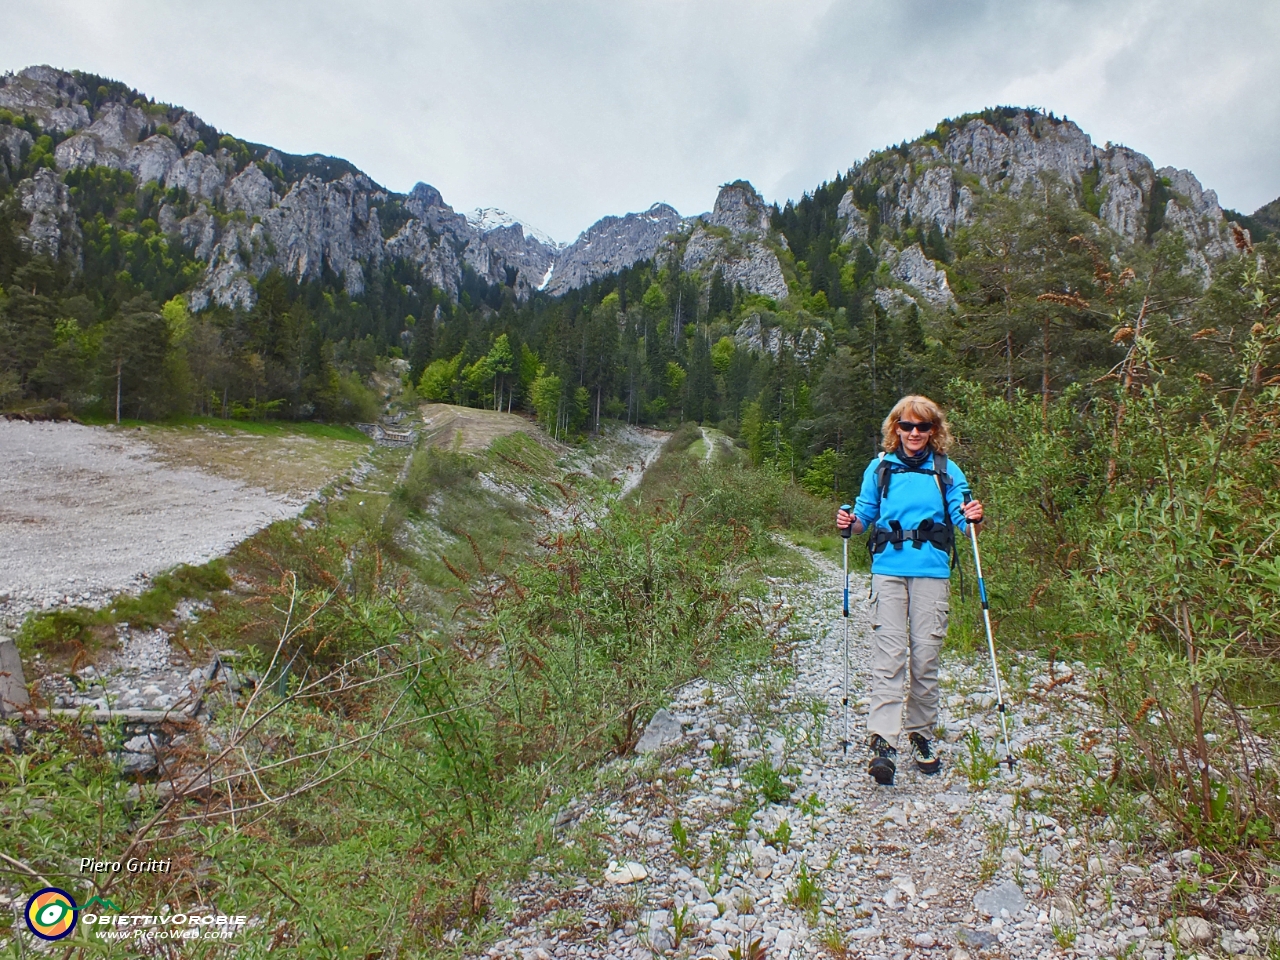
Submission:
M 1165 361 L 1179 328 L 1144 316 L 1092 403 L 952 387 L 989 507 L 997 641 L 1097 664 L 1134 785 L 1184 841 L 1220 849 L 1270 845 L 1280 815 L 1275 773 L 1248 753 L 1280 692 L 1280 278 L 1266 262 L 1242 257 L 1206 297 L 1248 330 L 1204 358 L 1225 383 Z

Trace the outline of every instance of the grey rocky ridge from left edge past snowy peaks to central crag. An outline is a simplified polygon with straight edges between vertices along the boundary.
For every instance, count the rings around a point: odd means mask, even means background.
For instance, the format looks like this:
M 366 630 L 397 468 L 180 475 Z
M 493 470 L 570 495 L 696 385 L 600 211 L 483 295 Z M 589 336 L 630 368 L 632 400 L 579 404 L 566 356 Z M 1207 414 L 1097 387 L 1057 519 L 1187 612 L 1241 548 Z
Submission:
M 166 204 L 157 216 L 165 233 L 206 264 L 191 293 L 196 308 L 252 306 L 253 280 L 273 268 L 297 279 L 316 279 L 328 269 L 358 296 L 365 270 L 387 259 L 413 262 L 453 298 L 465 271 L 508 284 L 520 297 L 535 289 L 554 296 L 652 259 L 669 237 L 690 232 L 685 269 L 709 276 L 721 268 L 728 282 L 750 292 L 776 298 L 787 292 L 769 246 L 780 238 L 769 239 L 769 209 L 750 184 L 722 189 L 705 223 L 654 204 L 644 212 L 607 216 L 561 248 L 500 211 L 467 218 L 425 183 L 401 196 L 340 160 L 223 138 L 180 108 L 140 96 L 96 101 L 61 70 L 35 67 L 3 79 L 0 108 L 55 132 L 58 173 L 127 170 L 140 187 L 156 183 L 196 201 L 189 211 Z M 0 127 L 0 173 L 15 172 L 29 151 L 26 131 Z M 28 241 L 74 255 L 74 216 L 68 220 L 65 187 L 59 193 L 54 180 L 50 172 L 23 187 L 33 218 Z

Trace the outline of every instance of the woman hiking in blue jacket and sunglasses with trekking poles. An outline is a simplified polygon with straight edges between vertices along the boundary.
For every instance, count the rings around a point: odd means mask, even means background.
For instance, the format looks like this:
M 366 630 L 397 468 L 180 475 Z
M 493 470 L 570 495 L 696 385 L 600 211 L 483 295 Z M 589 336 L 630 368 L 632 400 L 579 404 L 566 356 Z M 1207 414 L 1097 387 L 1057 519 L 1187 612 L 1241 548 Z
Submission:
M 872 695 L 867 717 L 872 762 L 868 772 L 892 786 L 906 704 L 906 736 L 915 765 L 942 768 L 933 742 L 938 723 L 938 660 L 947 635 L 955 538 L 982 522 L 982 503 L 964 502 L 969 483 L 947 460 L 951 430 L 941 407 L 909 396 L 893 404 L 881 428 L 884 452 L 863 474 L 852 512 L 841 508 L 836 526 L 870 531 Z M 906 685 L 910 662 L 910 690 Z

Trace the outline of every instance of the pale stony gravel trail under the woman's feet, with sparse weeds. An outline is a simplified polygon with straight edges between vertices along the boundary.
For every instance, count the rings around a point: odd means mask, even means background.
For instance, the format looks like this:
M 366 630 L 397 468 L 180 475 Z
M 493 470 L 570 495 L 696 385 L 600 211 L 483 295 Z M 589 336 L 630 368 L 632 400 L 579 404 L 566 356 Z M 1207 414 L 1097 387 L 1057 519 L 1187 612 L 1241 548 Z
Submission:
M 817 576 L 774 584 L 778 609 L 790 614 L 790 663 L 727 687 L 698 681 L 680 690 L 646 733 L 660 741 L 667 730 L 666 745 L 611 764 L 600 777 L 607 786 L 557 818 L 567 842 L 603 847 L 603 878 L 545 865 L 506 891 L 513 919 L 486 955 L 728 960 L 735 950 L 750 956 L 759 940 L 769 960 L 1171 959 L 1169 895 L 1179 873 L 1194 869 L 1193 851 L 1143 863 L 1140 851 L 1107 838 L 1105 824 L 1032 812 L 1028 804 L 1052 787 L 1028 764 L 1009 774 L 992 771 L 988 755 L 984 773 L 963 772 L 970 736 L 989 754 L 997 737 L 980 660 L 945 662 L 942 773 L 915 771 L 904 739 L 897 785 L 874 785 L 863 745 L 864 577 L 850 598 L 854 742 L 841 749 L 841 572 L 801 552 Z M 1064 682 L 1061 664 L 1057 675 L 1039 666 L 1048 676 L 1037 676 L 1039 667 L 1020 676 L 1015 754 L 1050 755 L 1082 735 L 1097 744 L 1079 678 Z M 1053 695 L 1037 699 L 1037 690 Z M 1105 745 L 1094 749 L 1107 756 Z M 782 771 L 790 797 L 760 799 L 751 768 L 764 760 Z M 1247 920 L 1221 931 L 1198 916 L 1176 923 L 1181 956 L 1210 941 L 1206 955 L 1219 943 L 1258 950 Z

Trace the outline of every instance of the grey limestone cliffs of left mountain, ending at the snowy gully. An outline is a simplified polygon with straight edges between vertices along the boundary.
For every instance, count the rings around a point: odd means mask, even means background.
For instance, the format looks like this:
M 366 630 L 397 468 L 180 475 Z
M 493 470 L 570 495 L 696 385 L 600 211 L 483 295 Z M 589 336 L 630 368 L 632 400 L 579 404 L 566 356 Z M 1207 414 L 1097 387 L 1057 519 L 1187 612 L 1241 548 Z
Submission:
M 141 96 L 99 100 L 76 76 L 47 67 L 4 77 L 0 108 L 33 118 L 58 140 L 58 173 L 41 170 L 18 189 L 32 218 L 27 242 L 42 252 L 78 256 L 78 229 L 59 177 L 69 170 L 127 170 L 138 187 L 157 183 L 197 201 L 183 215 L 182 205 L 165 204 L 157 216 L 165 233 L 207 264 L 191 293 L 196 308 L 252 306 L 252 282 L 273 268 L 297 279 L 317 279 L 328 269 L 358 296 L 366 269 L 387 257 L 411 260 L 452 297 L 463 270 L 527 296 L 556 253 L 518 223 L 470 223 L 426 184 L 398 196 L 346 161 L 223 138 L 198 116 Z M 15 172 L 31 143 L 26 131 L 0 127 L 0 174 Z M 389 236 L 380 210 L 397 224 Z

